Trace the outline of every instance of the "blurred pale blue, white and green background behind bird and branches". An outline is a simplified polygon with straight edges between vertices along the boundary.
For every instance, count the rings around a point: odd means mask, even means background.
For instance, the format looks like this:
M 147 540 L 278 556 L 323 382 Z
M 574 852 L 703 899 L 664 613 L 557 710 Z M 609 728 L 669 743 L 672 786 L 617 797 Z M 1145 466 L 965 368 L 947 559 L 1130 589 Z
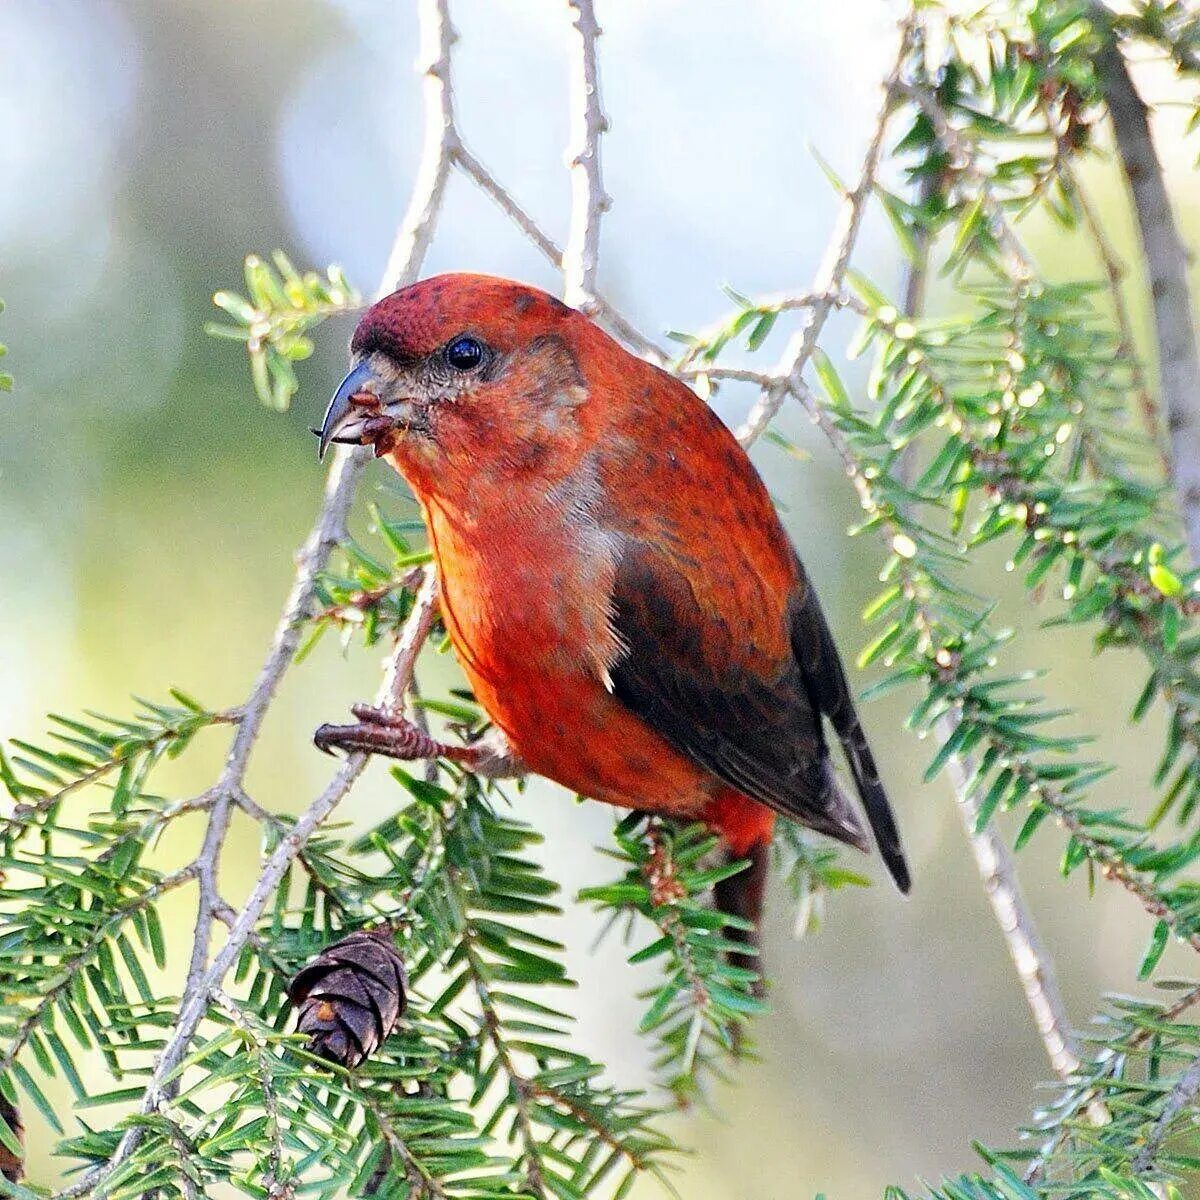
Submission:
M 560 234 L 565 6 L 462 0 L 454 17 L 469 144 Z M 749 293 L 805 287 L 834 215 L 806 143 L 836 169 L 856 169 L 892 53 L 888 11 L 874 0 L 610 0 L 600 17 L 612 120 L 605 175 L 616 198 L 604 230 L 608 294 L 661 335 L 722 313 L 722 281 Z M 238 348 L 202 325 L 211 293 L 239 284 L 247 251 L 336 259 L 373 287 L 420 137 L 412 6 L 0 0 L 0 340 L 17 377 L 0 426 L 0 733 L 37 737 L 50 708 L 122 712 L 130 692 L 158 697 L 169 685 L 211 706 L 238 703 L 318 503 L 306 426 L 343 370 L 349 329 L 326 326 L 293 412 L 277 415 L 253 401 Z M 1139 79 L 1152 100 L 1171 98 L 1160 70 Z M 1195 146 L 1183 145 L 1182 120 L 1164 108 L 1159 134 L 1195 242 Z M 1088 178 L 1132 258 L 1116 178 L 1103 166 Z M 1030 238 L 1052 274 L 1096 272 L 1061 234 L 1034 227 Z M 895 286 L 900 264 L 876 214 L 859 262 Z M 461 180 L 426 265 L 554 286 Z M 932 302 L 946 302 L 936 287 Z M 1140 295 L 1135 312 L 1144 323 Z M 830 348 L 846 334 L 833 325 Z M 731 391 L 719 407 L 736 421 L 750 400 Z M 864 641 L 877 547 L 845 536 L 853 500 L 808 424 L 788 413 L 784 427 L 811 446 L 811 461 L 767 445 L 756 460 L 850 654 Z M 408 504 L 380 467 L 365 499 Z M 1140 666 L 1117 653 L 1093 661 L 1085 637 L 1040 631 L 1043 614 L 1027 611 L 1001 560 L 980 566 L 978 584 L 998 588 L 1003 617 L 1022 629 L 1010 661 L 1049 667 L 1051 696 L 1074 706 L 1075 726 L 1120 763 L 1099 799 L 1141 806 L 1159 728 L 1129 737 Z M 260 803 L 307 803 L 330 772 L 312 728 L 340 719 L 376 678 L 373 659 L 342 656 L 331 642 L 294 673 L 253 763 Z M 426 686 L 452 678 L 443 660 Z M 720 1093 L 718 1114 L 679 1117 L 682 1139 L 697 1147 L 682 1183 L 689 1200 L 848 1198 L 936 1177 L 971 1165 L 972 1138 L 1010 1144 L 1037 1100 L 1048 1074 L 1040 1045 L 947 787 L 919 782 L 929 751 L 900 728 L 904 712 L 896 697 L 870 706 L 865 720 L 902 818 L 913 896 L 898 899 L 871 864 L 880 886 L 836 896 L 823 931 L 804 941 L 792 938 L 786 898 L 775 898 L 763 1061 Z M 164 786 L 186 794 L 211 782 L 223 737 L 208 734 Z M 395 803 L 377 766 L 343 816 L 364 824 Z M 545 784 L 517 803 L 546 832 L 568 894 L 611 874 L 593 848 L 608 810 L 577 808 Z M 163 847 L 164 859 L 186 852 L 182 840 Z M 1020 865 L 1081 1024 L 1104 989 L 1129 989 L 1147 926 L 1118 889 L 1088 899 L 1080 880 L 1058 882 L 1055 851 L 1045 834 Z M 230 841 L 232 899 L 256 854 L 253 839 Z M 190 912 L 169 913 L 182 944 Z M 624 952 L 614 941 L 593 949 L 598 925 L 584 910 L 564 924 L 581 1042 L 618 1079 L 644 1080 L 637 978 Z M 52 1172 L 35 1127 L 30 1174 L 48 1182 Z

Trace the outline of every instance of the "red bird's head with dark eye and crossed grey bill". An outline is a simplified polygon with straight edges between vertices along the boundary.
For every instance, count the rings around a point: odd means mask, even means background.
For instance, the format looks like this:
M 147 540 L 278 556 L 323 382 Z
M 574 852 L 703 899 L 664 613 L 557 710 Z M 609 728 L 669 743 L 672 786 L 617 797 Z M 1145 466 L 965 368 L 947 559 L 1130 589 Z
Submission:
M 565 466 L 595 337 L 582 313 L 510 280 L 439 275 L 402 288 L 359 322 L 322 452 L 372 445 L 424 492 Z

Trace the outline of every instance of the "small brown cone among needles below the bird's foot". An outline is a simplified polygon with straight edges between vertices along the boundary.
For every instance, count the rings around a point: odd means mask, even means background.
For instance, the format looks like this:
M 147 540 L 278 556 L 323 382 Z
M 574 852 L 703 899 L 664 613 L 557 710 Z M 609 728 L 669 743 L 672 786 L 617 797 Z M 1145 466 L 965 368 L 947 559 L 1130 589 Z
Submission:
M 328 946 L 288 988 L 310 1049 L 342 1067 L 371 1057 L 396 1027 L 408 977 L 388 929 L 360 929 Z

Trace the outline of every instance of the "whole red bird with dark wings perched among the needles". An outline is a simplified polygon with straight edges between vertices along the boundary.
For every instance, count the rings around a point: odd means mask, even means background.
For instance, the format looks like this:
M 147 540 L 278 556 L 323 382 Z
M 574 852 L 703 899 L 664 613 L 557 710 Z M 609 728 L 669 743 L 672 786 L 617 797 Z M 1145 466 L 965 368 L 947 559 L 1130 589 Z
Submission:
M 442 616 L 511 757 L 622 808 L 707 822 L 751 866 L 718 902 L 757 920 L 776 814 L 908 869 L 824 614 L 719 418 L 583 313 L 442 275 L 364 314 L 330 442 L 373 444 L 425 516 Z M 476 767 L 358 708 L 318 745 Z M 499 764 L 503 766 L 503 764 Z

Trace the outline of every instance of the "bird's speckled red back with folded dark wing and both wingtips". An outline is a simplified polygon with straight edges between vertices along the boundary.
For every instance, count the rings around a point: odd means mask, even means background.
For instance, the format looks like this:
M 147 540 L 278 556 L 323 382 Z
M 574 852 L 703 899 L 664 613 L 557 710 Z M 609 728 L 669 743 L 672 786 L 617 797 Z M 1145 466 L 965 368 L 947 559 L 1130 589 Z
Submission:
M 865 838 L 838 787 L 838 733 L 883 859 L 908 871 L 887 796 L 816 594 L 733 434 L 678 379 L 647 365 L 589 380 L 602 406 L 596 516 L 617 534 L 616 694 L 739 792 L 852 845 Z M 625 395 L 622 395 L 622 389 Z

